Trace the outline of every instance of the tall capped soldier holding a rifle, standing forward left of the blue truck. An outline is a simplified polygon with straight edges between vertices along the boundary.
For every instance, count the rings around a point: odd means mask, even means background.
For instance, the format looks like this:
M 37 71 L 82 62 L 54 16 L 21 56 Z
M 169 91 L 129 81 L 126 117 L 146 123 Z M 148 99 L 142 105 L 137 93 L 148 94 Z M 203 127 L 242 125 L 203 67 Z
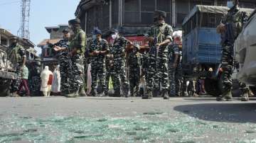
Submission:
M 149 33 L 145 38 L 149 42 L 150 50 L 147 53 L 148 62 L 150 63 L 147 74 L 149 78 L 146 81 L 146 94 L 142 98 L 149 99 L 152 96 L 159 96 L 161 85 L 161 96 L 168 99 L 168 69 L 167 69 L 167 45 L 172 41 L 171 25 L 165 23 L 166 12 L 154 12 L 154 25 L 149 28 Z

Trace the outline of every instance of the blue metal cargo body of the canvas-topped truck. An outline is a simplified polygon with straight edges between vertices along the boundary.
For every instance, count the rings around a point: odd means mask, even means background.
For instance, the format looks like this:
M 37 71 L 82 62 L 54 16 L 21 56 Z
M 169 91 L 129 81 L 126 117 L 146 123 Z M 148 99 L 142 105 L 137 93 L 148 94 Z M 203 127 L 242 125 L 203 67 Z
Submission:
M 221 58 L 220 35 L 215 28 L 195 28 L 183 37 L 183 64 L 218 64 Z

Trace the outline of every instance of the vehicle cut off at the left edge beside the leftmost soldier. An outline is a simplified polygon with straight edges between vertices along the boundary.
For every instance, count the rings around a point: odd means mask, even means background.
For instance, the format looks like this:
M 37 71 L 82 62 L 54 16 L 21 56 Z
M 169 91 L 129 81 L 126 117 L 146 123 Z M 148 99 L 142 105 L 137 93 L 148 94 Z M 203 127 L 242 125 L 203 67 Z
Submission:
M 18 78 L 6 50 L 7 47 L 0 45 L 0 96 L 6 96 L 9 93 L 11 81 Z

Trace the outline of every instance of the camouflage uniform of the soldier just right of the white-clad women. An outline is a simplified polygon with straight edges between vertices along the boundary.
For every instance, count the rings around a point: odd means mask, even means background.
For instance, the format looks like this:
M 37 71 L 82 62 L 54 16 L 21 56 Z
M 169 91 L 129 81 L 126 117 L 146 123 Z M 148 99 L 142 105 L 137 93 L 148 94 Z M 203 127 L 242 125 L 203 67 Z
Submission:
M 59 47 L 65 47 L 68 49 L 70 42 L 69 40 L 60 40 L 55 45 Z M 70 85 L 68 80 L 68 75 L 70 75 L 70 57 L 68 56 L 68 51 L 61 51 L 58 53 L 58 64 L 60 65 L 60 92 L 68 93 Z

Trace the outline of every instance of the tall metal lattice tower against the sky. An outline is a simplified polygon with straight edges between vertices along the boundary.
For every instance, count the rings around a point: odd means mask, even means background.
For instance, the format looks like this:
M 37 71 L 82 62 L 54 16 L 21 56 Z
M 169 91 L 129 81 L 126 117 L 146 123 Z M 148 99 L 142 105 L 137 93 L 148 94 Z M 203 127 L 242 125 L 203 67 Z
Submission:
M 21 0 L 21 27 L 18 30 L 18 35 L 21 38 L 29 39 L 29 13 L 31 0 Z

